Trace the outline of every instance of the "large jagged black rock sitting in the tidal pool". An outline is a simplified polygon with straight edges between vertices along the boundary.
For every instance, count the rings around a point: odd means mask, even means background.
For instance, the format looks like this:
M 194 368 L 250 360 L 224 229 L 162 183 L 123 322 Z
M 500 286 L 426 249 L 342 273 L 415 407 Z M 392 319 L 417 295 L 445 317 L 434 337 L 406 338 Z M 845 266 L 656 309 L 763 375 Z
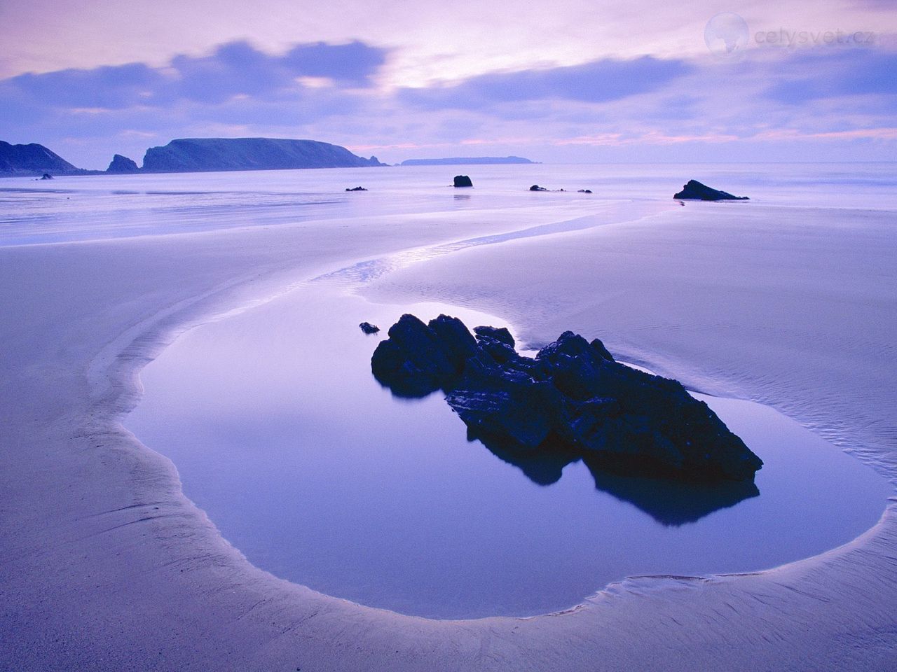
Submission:
M 490 450 L 562 460 L 627 476 L 753 480 L 762 461 L 681 383 L 614 361 L 572 332 L 524 358 L 507 330 L 405 314 L 371 358 L 396 395 L 442 389 L 470 435 Z

